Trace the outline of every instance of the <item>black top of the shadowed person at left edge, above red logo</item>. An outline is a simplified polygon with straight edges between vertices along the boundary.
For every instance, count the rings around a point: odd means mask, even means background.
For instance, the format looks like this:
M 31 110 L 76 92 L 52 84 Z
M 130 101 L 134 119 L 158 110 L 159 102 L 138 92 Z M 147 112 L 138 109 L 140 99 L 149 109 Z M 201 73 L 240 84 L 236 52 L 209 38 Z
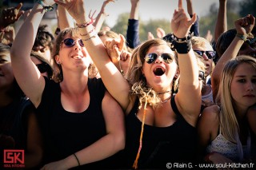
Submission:
M 0 167 L 3 167 L 4 149 L 26 151 L 28 114 L 24 111 L 29 107 L 34 108 L 34 105 L 26 97 L 21 97 L 0 108 Z

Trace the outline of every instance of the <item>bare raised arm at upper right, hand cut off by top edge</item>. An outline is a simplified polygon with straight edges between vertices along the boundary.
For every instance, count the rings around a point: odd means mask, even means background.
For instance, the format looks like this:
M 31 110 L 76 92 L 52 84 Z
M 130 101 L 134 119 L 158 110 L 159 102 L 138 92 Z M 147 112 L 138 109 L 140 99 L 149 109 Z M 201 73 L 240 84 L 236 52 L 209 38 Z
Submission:
M 214 41 L 217 42 L 219 36 L 227 30 L 226 22 L 226 1 L 219 0 L 218 18 L 215 25 Z

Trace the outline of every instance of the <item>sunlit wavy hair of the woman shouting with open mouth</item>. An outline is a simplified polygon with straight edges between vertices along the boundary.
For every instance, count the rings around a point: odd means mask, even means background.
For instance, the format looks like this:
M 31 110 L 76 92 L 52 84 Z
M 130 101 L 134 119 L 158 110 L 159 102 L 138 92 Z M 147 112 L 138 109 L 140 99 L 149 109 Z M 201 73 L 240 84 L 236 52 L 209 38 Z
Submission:
M 132 60 L 130 62 L 130 69 L 127 73 L 127 80 L 131 85 L 130 96 L 135 95 L 139 98 L 139 107 L 141 107 L 142 103 L 146 100 L 147 103 L 152 107 L 157 107 L 161 103 L 161 100 L 158 97 L 158 93 L 156 93 L 152 87 L 147 85 L 146 77 L 142 73 L 142 65 L 145 62 L 144 57 L 146 56 L 146 53 L 150 50 L 151 47 L 157 45 L 170 46 L 170 43 L 159 38 L 154 38 L 142 43 L 142 45 L 138 45 L 138 47 L 136 47 L 132 53 Z M 174 61 L 178 65 L 178 58 L 176 53 L 174 53 Z M 178 80 L 173 81 L 173 86 L 174 88 L 172 93 L 178 89 Z

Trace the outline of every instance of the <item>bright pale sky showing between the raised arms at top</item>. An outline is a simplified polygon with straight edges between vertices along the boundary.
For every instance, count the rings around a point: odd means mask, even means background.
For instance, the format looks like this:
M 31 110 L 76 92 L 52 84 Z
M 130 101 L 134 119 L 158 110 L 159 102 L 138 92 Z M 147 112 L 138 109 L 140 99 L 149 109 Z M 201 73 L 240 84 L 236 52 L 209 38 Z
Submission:
M 90 9 L 92 11 L 97 10 L 96 14 L 98 14 L 104 1 L 105 0 L 87 1 L 87 11 L 89 12 Z M 182 0 L 182 2 L 186 9 L 186 0 Z M 218 6 L 218 2 L 219 0 L 193 0 L 194 12 L 201 17 L 208 13 L 211 4 L 216 3 Z M 170 20 L 174 9 L 177 7 L 178 0 L 140 0 L 139 16 L 143 21 L 157 18 Z M 106 13 L 110 14 L 110 16 L 106 18 L 106 23 L 109 26 L 114 26 L 119 14 L 130 13 L 130 0 L 115 0 L 115 2 L 110 2 L 106 6 Z

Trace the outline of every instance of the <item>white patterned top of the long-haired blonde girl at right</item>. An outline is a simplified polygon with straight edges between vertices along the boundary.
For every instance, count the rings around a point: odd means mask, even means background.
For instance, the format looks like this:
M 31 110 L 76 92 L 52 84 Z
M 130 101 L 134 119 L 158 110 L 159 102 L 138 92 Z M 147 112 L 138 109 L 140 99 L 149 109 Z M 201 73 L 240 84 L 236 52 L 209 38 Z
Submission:
M 221 128 L 219 129 L 220 131 L 218 136 L 213 141 L 211 141 L 211 143 L 206 147 L 206 153 L 218 152 L 222 154 L 222 156 L 226 156 L 227 158 L 233 160 L 234 162 L 240 161 L 241 159 L 239 156 L 238 144 L 234 144 L 233 142 L 226 140 L 226 138 L 222 136 Z M 250 142 L 250 136 L 248 136 L 247 139 L 247 146 L 249 145 L 248 142 Z M 243 157 L 249 155 L 247 146 L 242 146 L 242 151 L 244 155 Z

